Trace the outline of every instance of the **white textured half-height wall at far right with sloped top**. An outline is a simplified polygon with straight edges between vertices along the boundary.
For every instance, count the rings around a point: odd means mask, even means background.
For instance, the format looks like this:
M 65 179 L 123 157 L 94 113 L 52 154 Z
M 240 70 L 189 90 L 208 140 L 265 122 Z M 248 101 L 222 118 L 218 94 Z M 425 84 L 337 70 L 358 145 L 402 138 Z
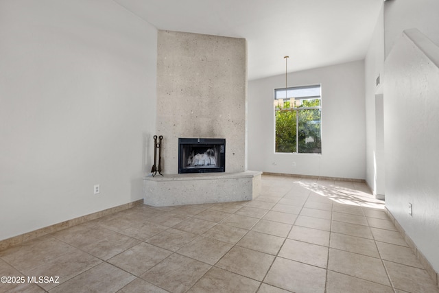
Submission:
M 436 64 L 407 36 L 385 60 L 385 203 L 439 272 L 439 47 L 418 30 L 410 37 Z

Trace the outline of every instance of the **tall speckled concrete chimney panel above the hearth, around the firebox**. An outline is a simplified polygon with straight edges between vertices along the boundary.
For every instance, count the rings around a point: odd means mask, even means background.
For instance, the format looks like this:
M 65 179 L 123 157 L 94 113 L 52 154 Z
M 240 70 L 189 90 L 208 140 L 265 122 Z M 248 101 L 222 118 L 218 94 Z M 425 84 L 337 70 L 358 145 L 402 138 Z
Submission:
M 178 173 L 178 138 L 226 139 L 226 172 L 246 170 L 246 40 L 158 32 L 157 134 L 163 173 Z

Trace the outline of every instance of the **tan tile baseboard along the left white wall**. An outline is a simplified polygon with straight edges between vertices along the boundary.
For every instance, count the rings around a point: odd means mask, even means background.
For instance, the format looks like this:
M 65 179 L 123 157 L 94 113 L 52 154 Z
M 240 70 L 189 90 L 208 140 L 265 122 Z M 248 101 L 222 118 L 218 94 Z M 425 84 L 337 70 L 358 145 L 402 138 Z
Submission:
M 82 215 L 81 217 L 74 218 L 71 220 L 67 220 L 64 222 L 60 222 L 58 224 L 53 224 L 44 228 L 39 228 L 34 231 L 30 231 L 21 235 L 17 235 L 14 237 L 10 237 L 8 239 L 0 240 L 0 251 L 11 248 L 12 246 L 16 246 L 22 244 L 23 242 L 27 242 L 29 240 L 35 239 L 37 237 L 47 235 L 49 233 L 54 233 L 56 231 L 60 231 L 65 228 L 70 228 L 72 226 L 76 226 L 82 224 L 84 222 L 88 222 L 91 220 L 95 220 L 97 218 L 101 218 L 104 215 L 110 215 L 112 213 L 117 213 L 118 211 L 124 211 L 126 209 L 130 209 L 139 204 L 143 204 L 143 199 L 136 200 L 134 202 L 128 202 L 128 204 L 121 204 L 117 207 L 112 207 L 110 209 L 104 209 L 103 211 L 97 211 L 96 213 L 91 213 L 88 215 Z

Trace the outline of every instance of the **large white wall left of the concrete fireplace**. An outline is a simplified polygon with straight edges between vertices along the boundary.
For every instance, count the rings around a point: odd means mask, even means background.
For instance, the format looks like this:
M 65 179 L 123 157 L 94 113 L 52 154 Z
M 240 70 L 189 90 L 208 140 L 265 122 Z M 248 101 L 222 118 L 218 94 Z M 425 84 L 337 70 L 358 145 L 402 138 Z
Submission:
M 0 239 L 141 199 L 156 29 L 113 1 L 3 0 L 0 40 Z

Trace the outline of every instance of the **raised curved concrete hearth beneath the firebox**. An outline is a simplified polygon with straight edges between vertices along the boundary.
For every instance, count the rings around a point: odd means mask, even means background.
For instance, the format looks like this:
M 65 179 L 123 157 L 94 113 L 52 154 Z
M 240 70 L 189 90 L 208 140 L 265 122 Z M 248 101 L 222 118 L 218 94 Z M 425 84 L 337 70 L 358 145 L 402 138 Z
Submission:
M 262 172 L 173 174 L 143 179 L 143 202 L 153 207 L 252 200 Z

